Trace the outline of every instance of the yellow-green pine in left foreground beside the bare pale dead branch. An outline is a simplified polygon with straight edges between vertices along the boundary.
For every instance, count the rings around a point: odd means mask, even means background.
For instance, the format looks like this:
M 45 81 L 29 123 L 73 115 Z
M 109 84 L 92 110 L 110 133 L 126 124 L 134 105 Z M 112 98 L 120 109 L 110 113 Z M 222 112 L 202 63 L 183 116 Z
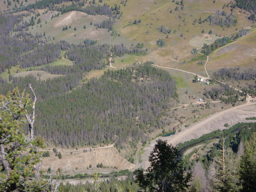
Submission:
M 34 136 L 31 113 L 35 115 L 35 102 L 36 99 L 32 101 L 29 94 L 25 94 L 25 91 L 20 93 L 18 88 L 6 96 L 0 95 L 0 167 L 4 170 L 0 174 L 0 191 L 49 189 L 38 167 L 42 159 L 39 148 L 45 145 L 42 138 Z M 29 126 L 29 132 L 26 132 L 26 126 Z

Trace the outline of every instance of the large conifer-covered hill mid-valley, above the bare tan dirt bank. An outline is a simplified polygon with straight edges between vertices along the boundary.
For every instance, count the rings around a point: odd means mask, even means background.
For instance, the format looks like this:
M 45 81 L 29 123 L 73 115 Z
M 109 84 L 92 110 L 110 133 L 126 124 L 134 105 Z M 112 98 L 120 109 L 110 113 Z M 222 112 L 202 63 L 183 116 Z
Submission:
M 62 146 L 140 140 L 158 128 L 174 89 L 170 74 L 150 63 L 108 70 L 71 93 L 39 102 L 36 133 Z

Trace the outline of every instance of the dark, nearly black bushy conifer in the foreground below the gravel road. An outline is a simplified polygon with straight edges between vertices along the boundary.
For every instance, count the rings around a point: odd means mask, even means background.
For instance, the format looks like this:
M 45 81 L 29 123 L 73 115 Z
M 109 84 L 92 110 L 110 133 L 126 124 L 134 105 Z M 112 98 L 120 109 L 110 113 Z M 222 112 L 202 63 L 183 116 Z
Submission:
M 140 188 L 150 192 L 184 191 L 189 186 L 191 174 L 184 174 L 178 156 L 178 147 L 157 140 L 149 156 L 150 167 L 145 173 L 140 169 L 134 171 Z

